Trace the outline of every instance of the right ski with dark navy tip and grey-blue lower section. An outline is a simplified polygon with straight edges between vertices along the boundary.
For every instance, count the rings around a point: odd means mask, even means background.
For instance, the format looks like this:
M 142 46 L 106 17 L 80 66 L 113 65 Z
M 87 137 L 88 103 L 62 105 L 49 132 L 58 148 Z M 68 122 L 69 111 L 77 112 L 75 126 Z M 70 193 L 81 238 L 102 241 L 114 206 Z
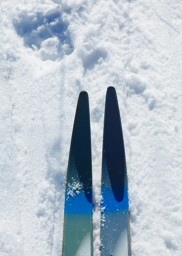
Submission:
M 101 196 L 101 256 L 130 256 L 126 160 L 114 87 L 108 87 L 105 103 Z

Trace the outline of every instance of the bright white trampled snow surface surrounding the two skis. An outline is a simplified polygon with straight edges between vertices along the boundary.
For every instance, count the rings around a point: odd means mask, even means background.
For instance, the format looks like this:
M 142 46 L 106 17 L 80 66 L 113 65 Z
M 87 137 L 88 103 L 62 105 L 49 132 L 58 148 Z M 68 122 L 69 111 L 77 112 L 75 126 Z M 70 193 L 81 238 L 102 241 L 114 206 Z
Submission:
M 61 255 L 81 90 L 99 256 L 108 86 L 124 132 L 132 255 L 182 255 L 182 1 L 0 0 L 0 256 Z

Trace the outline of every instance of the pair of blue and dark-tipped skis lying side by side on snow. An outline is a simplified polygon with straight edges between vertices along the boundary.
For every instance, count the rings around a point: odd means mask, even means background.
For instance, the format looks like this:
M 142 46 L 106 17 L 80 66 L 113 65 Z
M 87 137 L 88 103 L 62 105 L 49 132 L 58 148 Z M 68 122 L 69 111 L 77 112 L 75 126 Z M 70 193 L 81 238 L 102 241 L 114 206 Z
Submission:
M 101 176 L 101 256 L 130 256 L 127 172 L 116 90 L 105 103 Z M 66 180 L 63 256 L 92 256 L 92 157 L 88 94 L 78 98 Z

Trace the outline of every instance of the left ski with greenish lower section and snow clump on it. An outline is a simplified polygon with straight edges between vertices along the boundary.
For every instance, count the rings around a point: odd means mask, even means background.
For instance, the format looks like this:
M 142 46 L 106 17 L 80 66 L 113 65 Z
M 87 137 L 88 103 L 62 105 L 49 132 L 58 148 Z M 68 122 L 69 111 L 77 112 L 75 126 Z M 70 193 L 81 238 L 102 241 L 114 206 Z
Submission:
M 66 179 L 63 256 L 92 256 L 92 158 L 88 94 L 78 98 Z

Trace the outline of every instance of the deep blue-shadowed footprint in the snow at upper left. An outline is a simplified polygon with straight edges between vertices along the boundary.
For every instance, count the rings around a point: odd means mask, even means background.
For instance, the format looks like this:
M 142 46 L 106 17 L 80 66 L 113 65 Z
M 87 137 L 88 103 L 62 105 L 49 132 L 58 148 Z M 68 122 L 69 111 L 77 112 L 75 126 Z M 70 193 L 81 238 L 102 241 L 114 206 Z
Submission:
M 43 61 L 55 61 L 73 52 L 69 23 L 64 20 L 63 14 L 59 7 L 46 13 L 32 14 L 22 11 L 18 18 L 13 20 L 24 45 L 38 51 L 38 56 Z

